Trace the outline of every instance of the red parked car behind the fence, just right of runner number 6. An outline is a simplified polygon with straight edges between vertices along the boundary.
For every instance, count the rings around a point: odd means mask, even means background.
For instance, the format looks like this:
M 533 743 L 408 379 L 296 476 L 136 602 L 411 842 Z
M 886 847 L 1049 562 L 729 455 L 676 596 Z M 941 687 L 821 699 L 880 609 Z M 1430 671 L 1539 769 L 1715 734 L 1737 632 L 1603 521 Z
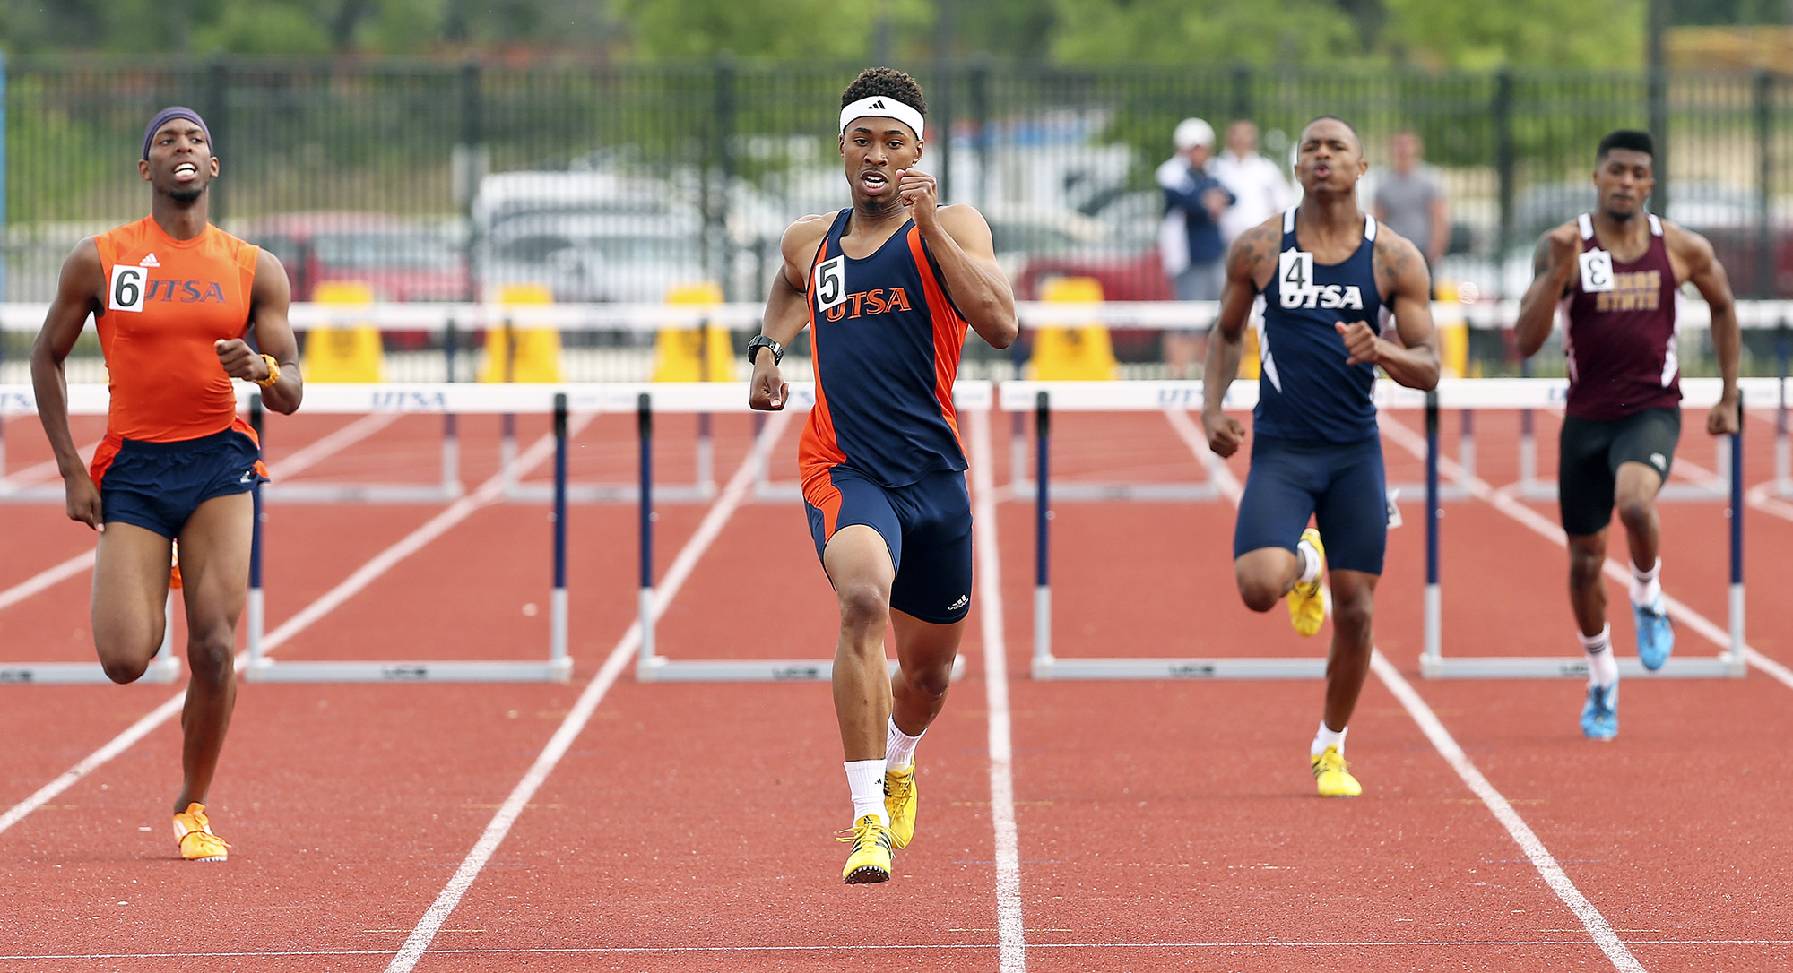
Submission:
M 441 226 L 351 210 L 282 213 L 242 226 L 238 237 L 280 258 L 292 299 L 319 283 L 359 281 L 375 301 L 464 301 L 464 247 Z

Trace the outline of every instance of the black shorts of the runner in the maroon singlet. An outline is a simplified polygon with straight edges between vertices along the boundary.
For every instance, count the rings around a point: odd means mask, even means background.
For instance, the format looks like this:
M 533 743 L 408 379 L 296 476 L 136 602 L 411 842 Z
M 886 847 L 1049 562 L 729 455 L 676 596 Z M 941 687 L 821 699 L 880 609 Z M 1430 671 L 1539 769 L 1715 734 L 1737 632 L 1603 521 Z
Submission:
M 1563 532 L 1587 538 L 1612 523 L 1619 464 L 1642 462 L 1667 482 L 1680 443 L 1680 409 L 1644 409 L 1608 423 L 1563 416 L 1556 443 L 1556 509 Z

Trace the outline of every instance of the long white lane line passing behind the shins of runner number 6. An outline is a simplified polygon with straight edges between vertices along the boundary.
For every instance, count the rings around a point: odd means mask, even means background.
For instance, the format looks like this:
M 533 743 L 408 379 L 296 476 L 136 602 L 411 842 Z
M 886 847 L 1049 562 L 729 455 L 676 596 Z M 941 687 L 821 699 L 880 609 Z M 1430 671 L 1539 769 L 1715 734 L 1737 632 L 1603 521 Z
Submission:
M 579 428 L 577 419 L 579 418 L 574 418 L 576 421 L 574 428 Z M 586 421 L 590 421 L 590 418 L 586 418 Z M 554 455 L 554 437 L 543 435 L 541 439 L 538 439 L 534 444 L 529 446 L 529 450 L 518 459 L 518 464 L 522 469 L 531 469 L 550 455 Z M 475 496 L 497 498 L 504 491 L 504 482 L 506 482 L 504 473 L 497 473 L 489 480 L 481 484 L 479 491 L 475 491 Z M 366 588 L 369 582 L 373 582 L 373 579 L 377 579 L 380 573 L 387 572 L 393 564 L 396 564 L 405 554 L 412 554 L 430 539 L 439 538 L 443 532 L 448 530 L 448 527 L 454 527 L 455 523 L 466 520 L 479 507 L 481 504 L 473 502 L 473 496 L 463 496 L 452 507 L 430 518 L 429 523 L 418 527 L 409 536 L 400 539 L 396 545 L 375 555 L 373 561 L 369 561 L 359 572 L 355 572 L 341 584 L 326 591 L 321 598 L 305 606 L 305 609 L 294 615 L 292 620 L 289 620 L 285 625 L 274 629 L 267 636 L 267 640 L 264 640 L 262 643 L 264 650 L 273 652 L 283 641 L 305 631 L 305 627 L 308 627 L 312 622 L 323 618 L 330 609 L 346 602 L 350 595 L 355 595 L 357 591 Z M 394 552 L 400 550 L 403 554 L 394 555 Z M 82 557 L 91 559 L 91 554 L 84 554 Z M 375 564 L 378 564 L 377 570 Z M 247 652 L 237 652 L 238 672 L 247 661 L 249 661 Z M 82 758 L 79 763 L 65 771 L 59 778 L 38 788 L 36 794 L 25 797 L 18 805 L 13 805 L 11 810 L 0 815 L 0 833 L 4 833 L 13 824 L 23 821 L 25 815 L 29 815 L 30 812 L 54 801 L 57 794 L 74 787 L 81 778 L 91 774 L 97 767 L 104 765 L 108 760 L 127 751 L 133 744 L 147 736 L 149 731 L 156 729 L 170 717 L 179 713 L 181 704 L 185 701 L 186 701 L 186 690 L 174 693 L 172 697 L 163 701 L 161 706 L 156 706 L 143 719 L 131 724 L 124 733 L 113 736 L 106 745 Z

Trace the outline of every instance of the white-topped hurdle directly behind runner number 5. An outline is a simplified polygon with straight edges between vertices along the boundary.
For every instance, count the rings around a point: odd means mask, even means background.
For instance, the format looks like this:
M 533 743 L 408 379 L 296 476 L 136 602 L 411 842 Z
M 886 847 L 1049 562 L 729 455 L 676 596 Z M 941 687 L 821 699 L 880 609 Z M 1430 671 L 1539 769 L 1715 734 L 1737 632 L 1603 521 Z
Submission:
M 638 471 L 640 471 L 640 518 L 638 518 L 638 566 L 640 586 L 637 591 L 637 615 L 642 631 L 640 654 L 635 665 L 635 677 L 642 683 L 816 683 L 834 677 L 832 659 L 671 659 L 660 654 L 656 640 L 656 597 L 654 597 L 654 484 L 653 484 L 653 430 L 656 412 L 742 412 L 748 409 L 746 383 L 620 383 L 611 387 L 613 396 L 635 398 Z M 959 382 L 952 389 L 954 407 L 959 412 L 988 410 L 993 401 L 990 382 Z M 816 405 L 816 389 L 810 383 L 793 383 L 785 401 L 787 410 L 807 410 Z M 766 423 L 755 435 L 748 466 L 732 480 L 728 489 L 744 489 L 748 480 L 762 484 L 766 457 L 773 446 L 773 434 L 782 425 Z M 744 477 L 744 478 L 742 478 Z M 724 496 L 728 495 L 724 489 Z M 784 496 L 784 491 L 773 491 Z M 889 663 L 895 672 L 896 663 Z M 965 674 L 965 658 L 952 663 L 952 677 Z

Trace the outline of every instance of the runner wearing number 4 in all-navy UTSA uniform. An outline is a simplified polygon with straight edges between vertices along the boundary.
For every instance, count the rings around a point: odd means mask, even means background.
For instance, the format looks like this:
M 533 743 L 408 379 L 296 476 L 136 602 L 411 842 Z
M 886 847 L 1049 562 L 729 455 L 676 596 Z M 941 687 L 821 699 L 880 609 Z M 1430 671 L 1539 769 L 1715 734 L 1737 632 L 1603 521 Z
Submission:
M 1287 597 L 1300 634 L 1320 631 L 1321 568 L 1330 575 L 1327 699 L 1309 747 L 1323 797 L 1363 792 L 1345 769 L 1345 729 L 1370 674 L 1370 616 L 1388 543 L 1382 441 L 1370 398 L 1375 371 L 1411 389 L 1438 383 L 1425 260 L 1357 208 L 1366 168 L 1363 140 L 1345 120 L 1321 115 L 1302 129 L 1295 161 L 1302 204 L 1234 240 L 1203 380 L 1208 448 L 1230 457 L 1244 426 L 1221 401 L 1239 375 L 1252 303 L 1262 296 L 1255 441 L 1234 573 L 1252 611 Z M 1382 337 L 1390 314 L 1399 344 Z M 1307 527 L 1309 518 L 1318 529 Z

